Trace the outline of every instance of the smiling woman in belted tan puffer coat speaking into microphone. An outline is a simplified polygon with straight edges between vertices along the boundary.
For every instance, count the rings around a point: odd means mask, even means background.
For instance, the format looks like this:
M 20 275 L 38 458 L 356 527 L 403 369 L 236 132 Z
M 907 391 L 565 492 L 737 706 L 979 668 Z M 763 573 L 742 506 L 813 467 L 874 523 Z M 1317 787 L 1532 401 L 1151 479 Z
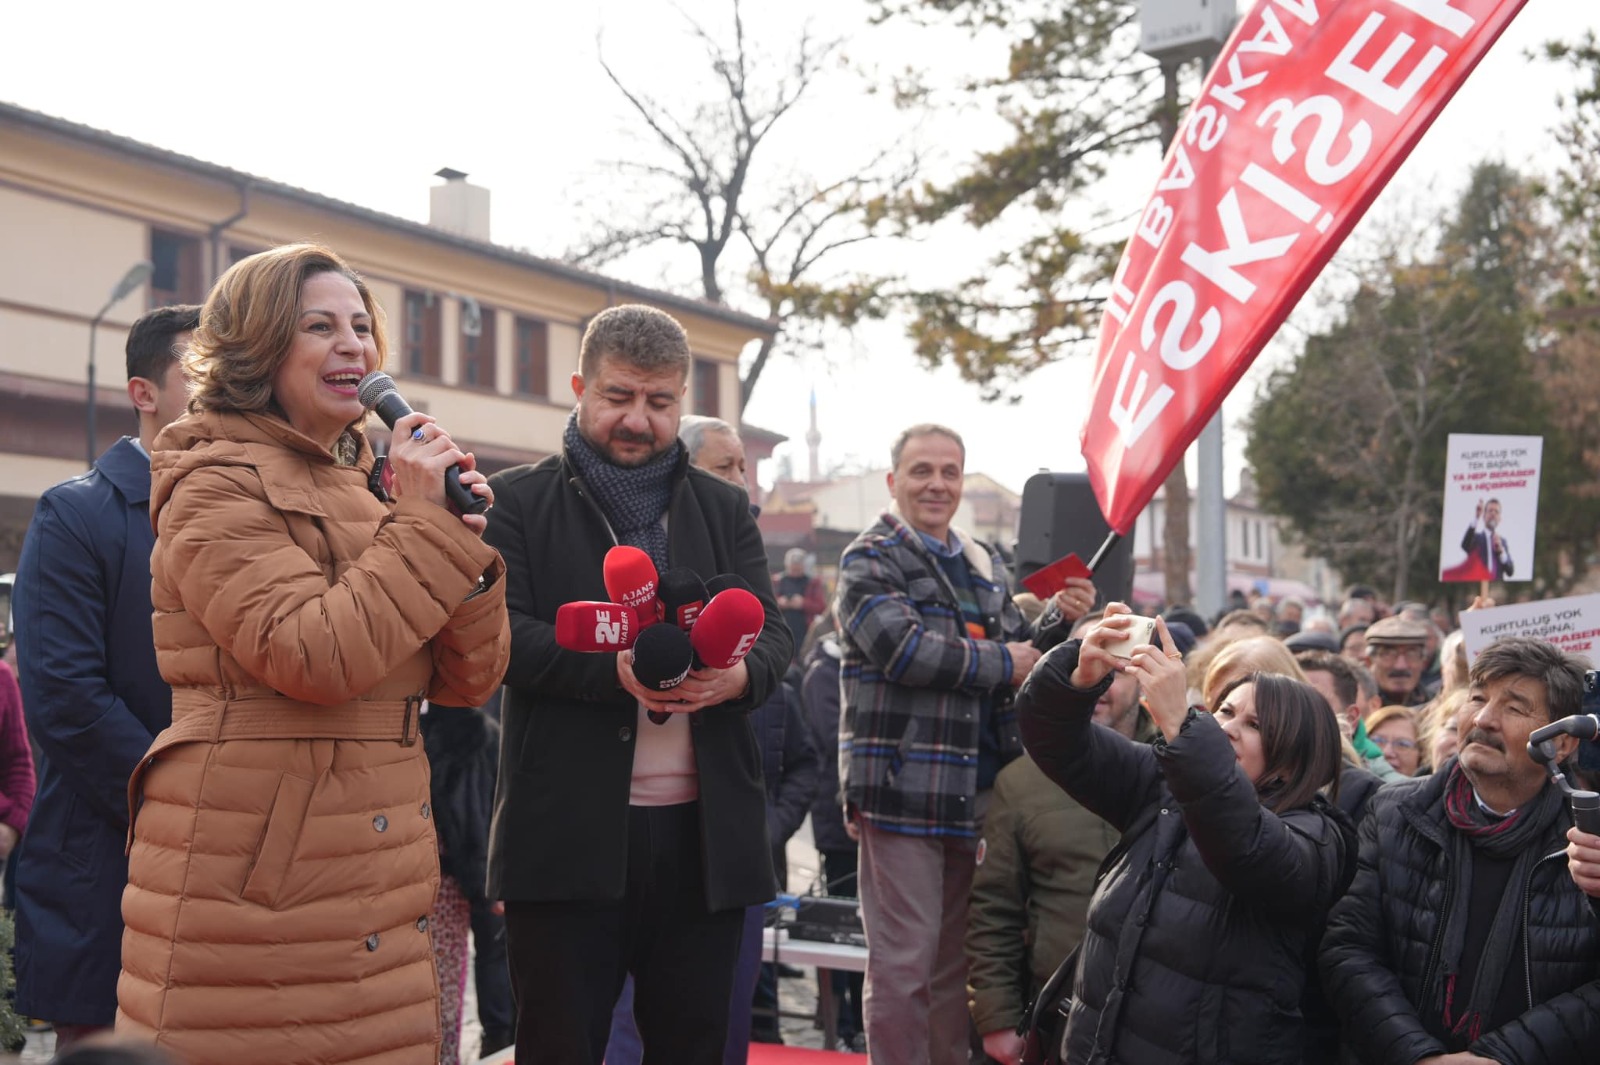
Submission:
M 509 656 L 504 564 L 443 497 L 490 496 L 432 419 L 368 485 L 357 381 L 382 312 L 326 248 L 218 281 L 190 413 L 152 457 L 155 649 L 173 724 L 130 785 L 117 1030 L 187 1065 L 435 1065 L 438 886 L 422 699 Z

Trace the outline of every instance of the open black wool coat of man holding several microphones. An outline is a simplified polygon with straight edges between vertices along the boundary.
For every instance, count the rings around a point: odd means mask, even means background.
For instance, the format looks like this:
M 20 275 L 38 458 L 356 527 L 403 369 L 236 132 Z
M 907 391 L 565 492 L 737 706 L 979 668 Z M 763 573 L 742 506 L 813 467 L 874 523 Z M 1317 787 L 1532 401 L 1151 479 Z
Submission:
M 490 483 L 494 509 L 483 539 L 506 558 L 512 641 L 490 897 L 614 902 L 626 894 L 638 704 L 616 680 L 614 654 L 555 644 L 555 611 L 563 603 L 608 598 L 602 563 L 614 544 L 611 529 L 565 456 L 504 470 Z M 766 609 L 744 659 L 746 696 L 691 718 L 706 903 L 730 910 L 766 902 L 774 894 L 773 862 L 750 710 L 782 680 L 792 640 L 744 489 L 680 461 L 667 507 L 667 561 L 704 580 L 738 574 Z

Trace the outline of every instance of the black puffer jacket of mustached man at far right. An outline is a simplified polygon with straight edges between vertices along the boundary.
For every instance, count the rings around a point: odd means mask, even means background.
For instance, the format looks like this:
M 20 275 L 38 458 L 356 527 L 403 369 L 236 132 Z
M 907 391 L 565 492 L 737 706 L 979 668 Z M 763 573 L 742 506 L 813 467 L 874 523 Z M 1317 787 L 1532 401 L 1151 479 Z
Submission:
M 1448 1049 L 1438 1020 L 1419 1015 L 1416 1003 L 1438 998 L 1445 915 L 1453 897 L 1464 905 L 1445 817 L 1451 766 L 1378 793 L 1362 824 L 1355 881 L 1328 919 L 1323 987 L 1363 1062 L 1411 1065 Z M 1544 857 L 1522 888 L 1512 975 L 1530 991 L 1530 1009 L 1470 1046 L 1506 1065 L 1594 1062 L 1600 1054 L 1600 926 L 1566 873 L 1570 825 L 1558 817 L 1549 828 L 1539 843 Z

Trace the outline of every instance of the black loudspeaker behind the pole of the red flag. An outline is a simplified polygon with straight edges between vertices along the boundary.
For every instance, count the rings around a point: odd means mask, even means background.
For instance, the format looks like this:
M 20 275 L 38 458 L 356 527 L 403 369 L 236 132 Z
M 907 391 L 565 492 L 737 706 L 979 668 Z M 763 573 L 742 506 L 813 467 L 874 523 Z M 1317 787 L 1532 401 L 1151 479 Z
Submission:
M 1075 552 L 1085 563 L 1110 534 L 1088 473 L 1035 473 L 1022 485 L 1022 518 L 1016 539 L 1018 580 Z M 1018 585 L 1021 587 L 1021 585 Z M 1101 604 L 1133 603 L 1133 529 L 1094 571 Z

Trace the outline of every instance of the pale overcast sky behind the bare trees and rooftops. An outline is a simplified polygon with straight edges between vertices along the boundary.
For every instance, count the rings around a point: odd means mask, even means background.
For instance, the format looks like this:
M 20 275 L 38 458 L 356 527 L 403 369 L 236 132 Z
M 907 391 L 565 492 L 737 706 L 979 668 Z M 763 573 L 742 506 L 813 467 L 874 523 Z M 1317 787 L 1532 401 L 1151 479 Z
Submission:
M 912 64 L 954 74 L 1002 56 L 995 42 L 973 45 L 952 32 L 870 29 L 861 0 L 747 6 L 752 40 L 776 56 L 802 24 L 848 37 L 846 58 L 856 67 Z M 678 8 L 710 29 L 728 22 L 725 2 L 682 0 Z M 1392 192 L 1448 201 L 1480 158 L 1525 168 L 1554 162 L 1550 130 L 1568 82 L 1526 51 L 1595 27 L 1600 5 L 1528 0 L 1400 170 Z M 578 219 L 586 197 L 605 181 L 606 163 L 635 144 L 600 72 L 602 46 L 640 88 L 670 94 L 704 77 L 682 14 L 659 0 L 62 0 L 6 11 L 0 99 L 416 221 L 426 221 L 432 173 L 453 166 L 491 189 L 498 243 L 555 256 L 581 237 Z M 774 162 L 837 174 L 894 136 L 904 118 L 861 85 L 850 70 L 830 77 L 774 142 Z M 966 114 L 925 125 L 917 136 L 949 163 L 968 146 L 994 142 L 998 130 L 984 115 Z M 1147 195 L 1158 163 L 1150 147 L 1118 171 L 1117 195 L 1136 190 L 1131 209 Z M 1110 203 L 1114 193 L 1104 195 Z M 918 248 L 896 254 L 917 267 L 931 256 Z M 629 280 L 664 278 L 646 272 Z M 1248 409 L 1267 358 L 1224 408 L 1230 422 Z M 1083 469 L 1078 429 L 1088 376 L 1088 355 L 1072 358 L 1038 373 L 1022 403 L 986 406 L 954 373 L 920 369 L 904 336 L 885 326 L 838 336 L 822 358 L 774 363 L 746 417 L 794 438 L 800 475 L 811 389 L 824 465 L 883 464 L 906 424 L 949 422 L 966 435 L 970 469 L 1021 489 L 1038 469 Z M 1240 435 L 1227 433 L 1229 491 L 1237 485 Z M 763 480 L 770 477 L 768 467 Z

